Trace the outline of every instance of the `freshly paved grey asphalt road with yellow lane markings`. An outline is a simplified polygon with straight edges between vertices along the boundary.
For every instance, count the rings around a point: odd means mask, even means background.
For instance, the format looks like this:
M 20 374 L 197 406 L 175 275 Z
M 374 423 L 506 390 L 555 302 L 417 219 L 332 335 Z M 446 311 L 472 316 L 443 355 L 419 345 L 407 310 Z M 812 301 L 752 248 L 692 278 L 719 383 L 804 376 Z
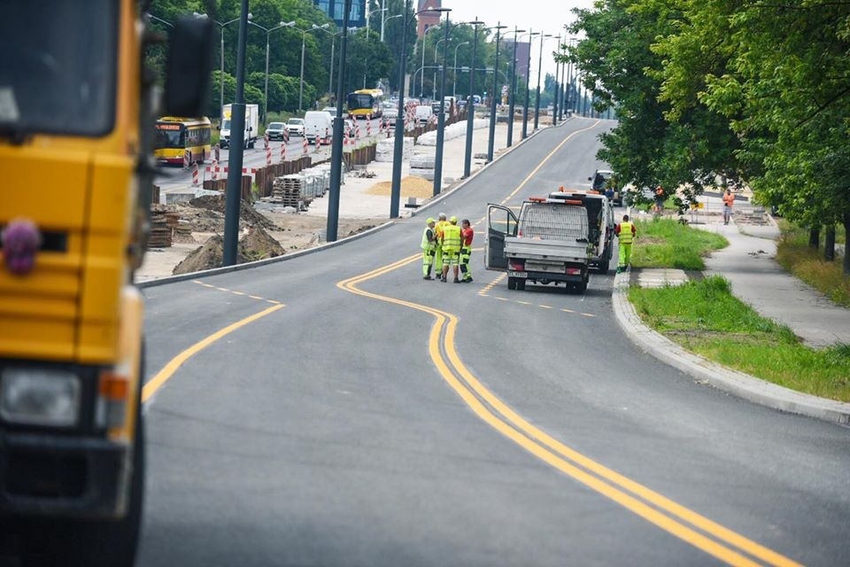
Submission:
M 438 208 L 586 186 L 608 126 L 549 128 Z M 140 565 L 850 564 L 850 431 L 640 352 L 613 275 L 507 291 L 475 252 L 474 283 L 423 281 L 423 226 L 144 291 Z

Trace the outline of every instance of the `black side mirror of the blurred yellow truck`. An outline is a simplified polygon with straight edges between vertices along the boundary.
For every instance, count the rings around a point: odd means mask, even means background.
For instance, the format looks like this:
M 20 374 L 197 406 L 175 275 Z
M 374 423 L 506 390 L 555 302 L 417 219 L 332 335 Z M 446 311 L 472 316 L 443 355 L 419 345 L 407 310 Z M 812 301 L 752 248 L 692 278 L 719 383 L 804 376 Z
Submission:
M 171 116 L 202 116 L 213 60 L 213 21 L 184 16 L 168 35 L 163 111 Z

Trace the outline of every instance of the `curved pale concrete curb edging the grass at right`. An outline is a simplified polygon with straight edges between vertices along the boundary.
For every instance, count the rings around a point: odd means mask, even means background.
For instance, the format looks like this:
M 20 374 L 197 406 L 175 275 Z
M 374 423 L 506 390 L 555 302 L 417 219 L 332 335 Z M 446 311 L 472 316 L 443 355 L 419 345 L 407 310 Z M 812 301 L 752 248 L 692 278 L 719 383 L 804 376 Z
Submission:
M 795 392 L 744 372 L 728 369 L 686 351 L 682 346 L 650 329 L 640 320 L 627 297 L 629 284 L 628 271 L 614 277 L 614 315 L 631 341 L 646 353 L 691 375 L 701 384 L 709 384 L 761 406 L 832 423 L 850 423 L 850 403 Z

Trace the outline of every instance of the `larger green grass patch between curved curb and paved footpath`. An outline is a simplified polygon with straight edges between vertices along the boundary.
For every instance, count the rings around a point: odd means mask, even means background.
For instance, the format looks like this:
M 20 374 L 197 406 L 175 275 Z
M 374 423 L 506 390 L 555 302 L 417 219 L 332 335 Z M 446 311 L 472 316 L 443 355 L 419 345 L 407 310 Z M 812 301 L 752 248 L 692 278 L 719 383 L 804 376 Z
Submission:
M 850 345 L 801 345 L 792 330 L 736 299 L 723 277 L 632 286 L 629 299 L 646 324 L 693 353 L 799 392 L 850 401 Z

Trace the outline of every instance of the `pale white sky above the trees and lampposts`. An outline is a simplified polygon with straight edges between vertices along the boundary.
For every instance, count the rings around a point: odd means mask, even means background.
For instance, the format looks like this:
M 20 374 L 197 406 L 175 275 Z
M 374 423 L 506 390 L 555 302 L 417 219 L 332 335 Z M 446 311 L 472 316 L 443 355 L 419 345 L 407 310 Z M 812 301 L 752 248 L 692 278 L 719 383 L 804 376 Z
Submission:
M 593 0 L 443 0 L 444 8 L 452 8 L 449 16 L 454 22 L 471 21 L 477 16 L 487 26 L 495 26 L 499 21 L 511 29 L 514 26 L 532 31 L 543 30 L 545 34 L 564 35 L 564 25 L 575 19 L 573 8 L 591 8 Z M 506 32 L 507 30 L 503 30 Z M 531 69 L 537 70 L 540 43 L 536 39 L 532 48 Z M 554 74 L 555 64 L 548 50 L 555 49 L 555 40 L 547 39 L 543 48 L 543 73 Z

